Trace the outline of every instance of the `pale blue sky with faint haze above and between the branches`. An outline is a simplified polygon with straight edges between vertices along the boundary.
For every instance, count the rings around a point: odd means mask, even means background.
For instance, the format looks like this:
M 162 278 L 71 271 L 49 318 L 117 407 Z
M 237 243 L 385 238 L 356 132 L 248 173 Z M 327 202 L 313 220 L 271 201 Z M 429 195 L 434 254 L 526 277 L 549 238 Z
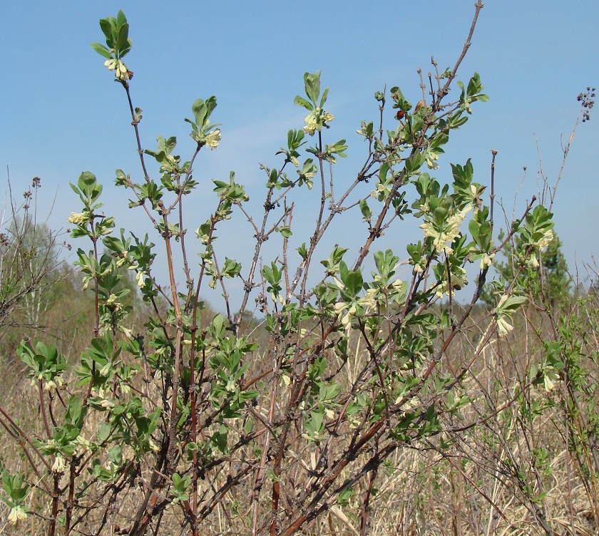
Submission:
M 117 225 L 143 229 L 140 213 L 126 210 L 124 192 L 112 186 L 116 168 L 138 172 L 125 94 L 89 46 L 103 41 L 98 19 L 116 16 L 118 9 L 130 24 L 133 49 L 126 60 L 135 72 L 135 105 L 143 108 L 145 148 L 154 148 L 159 135 L 176 135 L 177 152 L 185 159 L 193 142 L 183 118 L 191 117 L 196 98 L 217 96 L 213 118 L 222 123 L 222 143 L 202 155 L 195 177 L 210 192 L 210 179 L 226 180 L 235 170 L 259 206 L 265 180 L 258 163 L 280 165 L 274 153 L 287 130 L 302 128 L 305 111 L 293 98 L 302 93 L 304 71 L 322 69 L 322 83 L 331 87 L 327 109 L 336 119 L 327 136 L 329 142 L 348 140 L 349 158 L 338 173 L 349 181 L 365 154 L 354 132 L 360 120 L 377 117 L 374 91 L 398 85 L 416 102 L 416 70 L 429 71 L 431 56 L 440 68 L 454 65 L 473 4 L 4 1 L 0 187 L 4 192 L 7 167 L 17 192 L 31 177 L 41 177 L 40 212 L 47 214 L 55 202 L 48 221 L 66 227 L 70 212 L 80 210 L 68 182 L 90 170 L 106 187 L 106 211 L 116 213 Z M 478 71 L 491 100 L 476 105 L 469 123 L 454 135 L 436 176 L 449 180 L 449 163 L 470 157 L 478 182 L 487 183 L 490 150 L 496 149 L 497 194 L 511 211 L 524 166 L 518 207 L 536 193 L 538 141 L 543 171 L 553 183 L 562 157 L 560 137 L 568 140 L 578 114 L 576 96 L 586 86 L 599 86 L 598 21 L 596 0 L 487 0 L 458 78 L 467 81 Z M 554 205 L 570 269 L 576 259 L 581 276 L 583 263 L 599 252 L 599 117 L 593 115 L 578 128 Z M 205 221 L 203 211 L 210 207 L 210 196 L 200 195 L 198 221 L 188 220 L 190 230 Z M 249 231 L 238 218 L 221 234 L 235 244 L 242 229 Z M 348 238 L 343 231 L 339 227 L 331 243 L 343 244 Z M 242 262 L 247 243 L 235 244 Z M 404 257 L 403 245 L 396 247 Z

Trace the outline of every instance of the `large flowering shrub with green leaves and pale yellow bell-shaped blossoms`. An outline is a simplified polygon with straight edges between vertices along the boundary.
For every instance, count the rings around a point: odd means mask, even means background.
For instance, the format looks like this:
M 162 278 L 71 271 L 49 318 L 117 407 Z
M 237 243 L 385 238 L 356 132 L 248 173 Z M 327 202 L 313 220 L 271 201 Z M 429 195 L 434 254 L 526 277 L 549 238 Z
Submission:
M 73 366 L 52 346 L 29 339 L 19 346 L 39 398 L 41 431 L 21 428 L 1 410 L 26 456 L 26 469 L 4 470 L 11 521 L 29 512 L 51 535 L 143 535 L 176 519 L 200 535 L 224 512 L 230 530 L 291 535 L 333 512 L 365 533 L 386 460 L 404 448 L 451 444 L 447 423 L 477 403 L 464 378 L 488 341 L 511 331 L 526 301 L 518 275 L 535 267 L 553 237 L 551 212 L 533 197 L 505 237 L 494 239 L 494 196 L 475 180 L 470 160 L 451 165 L 453 182 L 434 177 L 451 134 L 487 100 L 478 73 L 466 83 L 456 79 L 481 8 L 478 2 L 455 66 L 439 71 L 434 63 L 428 77 L 419 71 L 416 104 L 398 86 L 375 93 L 379 118 L 357 129 L 367 158 L 349 185 L 335 180 L 337 160 L 349 148 L 329 137 L 329 88 L 322 88 L 320 71 L 305 73 L 293 102 L 307 116 L 282 135 L 272 165 L 262 166 L 259 215 L 248 212 L 233 173 L 213 185 L 194 179 L 205 150 L 217 150 L 226 135 L 213 122 L 215 96 L 195 100 L 185 118 L 194 142 L 188 160 L 175 153 L 174 136 L 142 147 L 133 71 L 123 63 L 128 22 L 122 11 L 100 21 L 106 45 L 92 46 L 126 94 L 140 157 L 138 171 L 116 170 L 116 185 L 149 230 L 139 237 L 118 229 L 103 211 L 103 188 L 92 172 L 71 185 L 80 205 L 68 222 L 81 244 L 82 292 L 95 303 L 93 333 Z M 310 230 L 293 221 L 302 188 L 319 193 Z M 189 212 L 193 195 L 207 189 L 213 211 Z M 367 238 L 357 249 L 335 237 L 337 245 L 317 257 L 344 212 L 362 220 Z M 255 234 L 244 264 L 217 236 L 233 218 Z M 378 250 L 382 234 L 409 218 L 421 231 L 406 252 Z M 263 245 L 275 236 L 280 251 L 264 258 Z M 292 237 L 301 244 L 294 252 L 287 248 Z M 493 259 L 513 239 L 521 252 L 516 274 L 494 289 L 469 359 L 444 366 Z M 188 255 L 190 240 L 201 246 L 197 258 Z M 166 281 L 158 278 L 159 262 Z M 409 266 L 407 277 L 400 277 L 401 264 Z M 469 266 L 476 276 L 466 289 Z M 143 332 L 131 329 L 123 268 L 153 311 Z M 227 292 L 234 279 L 244 289 L 238 303 Z M 201 299 L 207 287 L 223 296 L 222 313 L 208 318 Z M 252 302 L 264 319 L 248 328 Z M 556 371 L 538 368 L 536 381 L 549 385 Z

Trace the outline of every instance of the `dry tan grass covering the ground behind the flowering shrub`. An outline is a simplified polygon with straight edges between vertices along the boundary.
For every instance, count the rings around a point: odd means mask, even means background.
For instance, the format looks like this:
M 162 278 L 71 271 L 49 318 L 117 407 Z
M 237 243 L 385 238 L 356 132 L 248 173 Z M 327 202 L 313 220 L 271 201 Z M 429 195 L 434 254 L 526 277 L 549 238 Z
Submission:
M 593 332 L 599 310 L 595 302 L 589 303 L 574 307 L 557 322 L 563 326 L 566 318 L 580 319 L 578 331 L 571 331 L 569 336 L 573 344 L 578 344 L 579 366 L 588 378 L 592 393 L 599 374 L 592 359 L 599 351 Z M 479 314 L 483 315 L 483 311 Z M 508 339 L 491 337 L 473 360 L 483 336 L 476 326 L 475 318 L 461 344 L 446 356 L 438 372 L 439 375 L 455 374 L 467 368 L 459 392 L 469 397 L 469 403 L 454 415 L 442 413 L 443 432 L 403 445 L 386 460 L 374 480 L 367 533 L 377 536 L 597 535 L 599 512 L 595 485 L 599 467 L 595 463 L 598 452 L 593 426 L 599 421 L 598 413 L 588 406 L 590 398 L 584 390 L 577 391 L 570 386 L 568 392 L 562 381 L 546 391 L 542 385 L 532 386 L 528 376 L 531 364 L 543 359 L 541 339 L 552 335 L 551 319 L 537 311 L 527 311 Z M 359 346 L 354 350 L 354 361 L 346 365 L 348 381 L 364 359 Z M 255 368 L 260 365 L 256 364 Z M 16 361 L 4 361 L 2 376 L 5 385 L 2 407 L 32 436 L 41 436 L 39 403 L 31 398 L 29 383 L 21 379 L 24 366 Z M 144 388 L 141 379 L 138 387 Z M 423 391 L 419 396 L 421 401 L 426 401 L 429 395 Z M 574 413 L 566 409 L 573 401 L 579 406 Z M 537 413 L 531 412 L 535 406 L 541 408 Z M 257 408 L 257 411 L 265 410 Z M 572 422 L 568 425 L 568 419 L 573 418 L 585 423 L 586 428 L 576 428 Z M 575 437 L 576 430 L 580 432 L 579 437 Z M 546 450 L 543 463 L 537 456 L 540 449 Z M 211 489 L 225 482 L 227 475 L 242 470 L 254 457 L 251 450 L 238 450 L 230 456 L 227 472 L 214 475 L 210 483 L 200 481 L 200 495 L 208 495 Z M 364 461 L 366 459 L 364 455 Z M 29 470 L 19 445 L 4 431 L 0 440 L 0 462 L 11 471 Z M 285 490 L 294 488 L 297 492 L 309 487 L 317 453 L 314 448 L 290 449 L 286 463 L 282 507 L 293 508 L 292 500 L 285 503 Z M 146 465 L 150 466 L 151 463 Z M 254 483 L 251 474 L 215 507 L 203 525 L 205 534 L 248 533 Z M 146 471 L 138 478 L 149 480 L 150 475 Z M 35 483 L 35 478 L 30 480 Z M 360 480 L 347 505 L 334 505 L 303 533 L 314 536 L 359 534 L 360 511 L 368 485 L 368 480 Z M 100 488 L 92 489 L 89 495 L 99 492 Z M 110 519 L 103 534 L 118 534 L 120 527 L 130 525 L 143 494 L 138 486 L 132 485 L 121 495 L 118 498 L 98 495 L 98 506 L 103 507 L 98 508 L 98 515 L 104 507 L 110 506 L 107 510 Z M 263 494 L 261 503 L 265 512 L 269 500 L 268 495 Z M 43 517 L 50 512 L 37 490 L 30 495 L 29 508 L 35 515 L 29 515 L 15 530 L 7 522 L 8 510 L 2 506 L 0 535 L 42 534 L 46 526 Z M 92 510 L 91 515 L 77 525 L 81 534 L 93 533 L 98 522 L 94 512 Z M 267 518 L 261 520 L 263 526 L 266 523 Z M 160 534 L 187 533 L 180 510 L 165 510 Z

